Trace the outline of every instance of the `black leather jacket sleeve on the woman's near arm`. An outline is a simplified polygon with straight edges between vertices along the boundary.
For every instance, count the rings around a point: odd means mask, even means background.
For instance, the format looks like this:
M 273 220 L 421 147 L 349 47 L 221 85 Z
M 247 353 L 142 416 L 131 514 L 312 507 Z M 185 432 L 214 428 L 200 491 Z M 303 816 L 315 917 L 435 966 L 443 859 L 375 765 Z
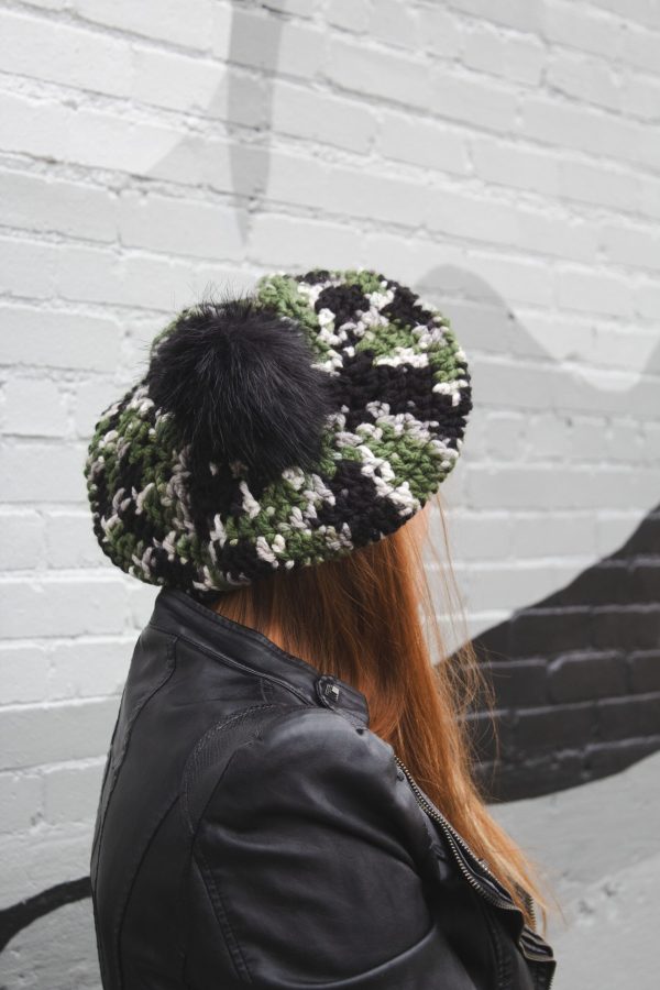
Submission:
M 235 986 L 473 986 L 433 923 L 430 839 L 397 769 L 392 747 L 323 708 L 235 749 L 194 854 Z

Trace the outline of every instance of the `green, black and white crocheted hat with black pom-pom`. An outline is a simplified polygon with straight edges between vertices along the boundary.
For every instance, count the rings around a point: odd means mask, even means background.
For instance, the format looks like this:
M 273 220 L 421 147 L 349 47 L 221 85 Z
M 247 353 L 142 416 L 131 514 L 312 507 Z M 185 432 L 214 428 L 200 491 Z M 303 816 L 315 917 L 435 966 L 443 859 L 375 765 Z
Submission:
M 450 321 L 374 271 L 260 278 L 183 310 L 96 426 L 103 552 L 206 597 L 394 532 L 454 466 L 472 408 Z

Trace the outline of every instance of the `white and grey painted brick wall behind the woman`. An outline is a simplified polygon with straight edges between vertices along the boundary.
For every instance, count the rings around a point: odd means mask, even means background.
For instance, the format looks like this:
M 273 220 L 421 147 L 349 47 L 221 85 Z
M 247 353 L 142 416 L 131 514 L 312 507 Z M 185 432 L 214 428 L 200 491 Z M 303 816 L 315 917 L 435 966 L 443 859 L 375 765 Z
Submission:
M 602 716 L 576 714 L 596 695 L 639 706 L 610 743 L 644 708 L 630 758 L 657 748 L 657 522 L 654 550 L 629 541 L 660 492 L 660 2 L 15 0 L 0 38 L 0 909 L 86 876 L 154 596 L 91 535 L 96 418 L 174 309 L 273 268 L 380 268 L 464 343 L 475 409 L 446 504 L 471 635 L 532 679 L 503 692 L 507 766 L 531 788 L 561 725 L 546 790 L 598 776 Z M 630 546 L 656 569 L 610 628 L 648 635 L 603 688 L 584 626 L 552 657 L 546 637 L 570 629 L 559 592 Z M 553 595 L 513 667 L 508 624 Z M 54 990 L 47 948 L 15 946 L 4 983 Z

